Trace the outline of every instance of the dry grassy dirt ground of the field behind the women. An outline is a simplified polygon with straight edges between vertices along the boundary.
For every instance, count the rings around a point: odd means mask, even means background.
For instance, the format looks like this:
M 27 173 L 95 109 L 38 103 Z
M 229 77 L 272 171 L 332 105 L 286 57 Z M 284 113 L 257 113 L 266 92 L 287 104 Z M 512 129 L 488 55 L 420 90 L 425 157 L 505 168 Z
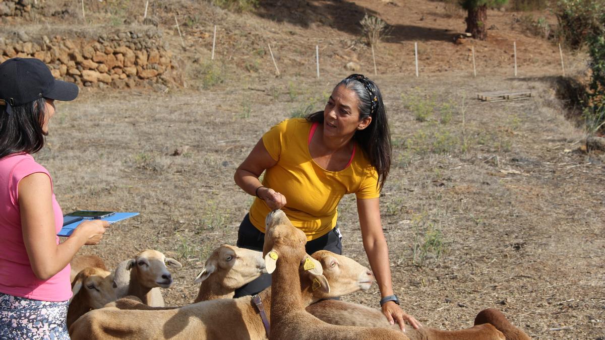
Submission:
M 113 267 L 142 249 L 165 252 L 183 263 L 163 291 L 166 304 L 192 301 L 209 252 L 235 244 L 252 197 L 233 174 L 263 132 L 321 110 L 350 73 L 343 68 L 348 61 L 373 73 L 371 51 L 353 25 L 367 11 L 394 26 L 378 47 L 379 74 L 372 78 L 394 146 L 381 212 L 402 308 L 439 329 L 470 327 L 477 312 L 495 307 L 535 339 L 605 338 L 605 156 L 582 150 L 586 134 L 566 120 L 555 96 L 558 49 L 511 24 L 523 13 L 489 11 L 495 28 L 488 41 L 473 42 L 473 77 L 468 42 L 450 41 L 464 30 L 463 18 L 445 15 L 442 2 L 261 1 L 257 14 L 243 15 L 203 8 L 183 28 L 185 50 L 178 38 L 171 41 L 189 72 L 187 88 L 85 88 L 74 102 L 57 105 L 47 146 L 35 157 L 53 174 L 64 212 L 140 212 L 83 253 Z M 160 23 L 177 34 L 169 18 L 160 16 Z M 208 59 L 211 47 L 205 18 L 223 22 L 226 37 L 217 48 L 220 81 L 212 83 L 196 76 L 204 62 L 195 58 Z M 416 40 L 420 77 L 411 64 Z M 275 44 L 280 77 L 267 42 Z M 324 66 L 316 79 L 320 43 Z M 582 58 L 566 55 L 578 77 Z M 534 97 L 476 99 L 478 92 L 509 89 L 530 89 Z M 182 154 L 173 155 L 176 149 Z M 353 196 L 342 200 L 339 214 L 344 255 L 367 265 Z M 343 299 L 378 307 L 378 288 Z

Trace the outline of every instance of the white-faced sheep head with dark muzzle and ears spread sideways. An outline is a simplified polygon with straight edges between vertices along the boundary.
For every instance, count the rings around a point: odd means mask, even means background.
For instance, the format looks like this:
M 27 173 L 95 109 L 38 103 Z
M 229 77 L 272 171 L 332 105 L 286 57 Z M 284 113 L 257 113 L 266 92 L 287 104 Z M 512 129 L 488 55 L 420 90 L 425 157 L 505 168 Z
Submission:
M 166 266 L 180 268 L 183 265 L 157 250 L 146 249 L 138 253 L 135 258 L 128 260 L 126 269 L 137 271 L 142 286 L 168 288 L 172 285 L 172 275 Z

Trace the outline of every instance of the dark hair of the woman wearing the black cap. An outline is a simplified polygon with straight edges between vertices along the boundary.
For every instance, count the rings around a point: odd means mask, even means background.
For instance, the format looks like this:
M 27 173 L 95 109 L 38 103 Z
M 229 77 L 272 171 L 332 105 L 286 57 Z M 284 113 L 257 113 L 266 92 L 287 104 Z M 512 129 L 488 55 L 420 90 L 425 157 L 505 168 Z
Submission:
M 47 135 L 42 131 L 44 108 L 44 98 L 11 106 L 11 113 L 0 105 L 0 159 L 16 152 L 33 154 L 42 149 Z

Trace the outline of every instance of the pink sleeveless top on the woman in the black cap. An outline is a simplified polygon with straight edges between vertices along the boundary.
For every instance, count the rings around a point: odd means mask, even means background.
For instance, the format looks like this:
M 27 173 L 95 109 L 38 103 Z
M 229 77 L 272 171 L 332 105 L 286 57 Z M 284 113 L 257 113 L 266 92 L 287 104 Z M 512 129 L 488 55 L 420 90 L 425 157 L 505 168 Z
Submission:
M 70 265 L 48 280 L 39 280 L 31 270 L 23 243 L 18 185 L 22 178 L 43 172 L 29 154 L 12 154 L 0 159 L 0 292 L 41 301 L 66 301 L 71 298 Z M 51 178 L 51 186 L 52 186 Z M 63 212 L 53 193 L 56 232 L 63 226 Z M 59 244 L 59 237 L 56 237 Z

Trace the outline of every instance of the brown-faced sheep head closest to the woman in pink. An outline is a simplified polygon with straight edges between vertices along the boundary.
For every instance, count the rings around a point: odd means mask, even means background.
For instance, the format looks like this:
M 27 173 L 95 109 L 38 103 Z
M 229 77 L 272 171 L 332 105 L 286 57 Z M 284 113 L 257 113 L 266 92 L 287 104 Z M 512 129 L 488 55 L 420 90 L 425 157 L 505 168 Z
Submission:
M 91 309 L 99 309 L 117 299 L 113 274 L 96 267 L 86 267 L 77 273 L 71 283 L 71 300 L 76 296 L 88 301 Z M 70 301 L 71 301 L 70 300 Z

